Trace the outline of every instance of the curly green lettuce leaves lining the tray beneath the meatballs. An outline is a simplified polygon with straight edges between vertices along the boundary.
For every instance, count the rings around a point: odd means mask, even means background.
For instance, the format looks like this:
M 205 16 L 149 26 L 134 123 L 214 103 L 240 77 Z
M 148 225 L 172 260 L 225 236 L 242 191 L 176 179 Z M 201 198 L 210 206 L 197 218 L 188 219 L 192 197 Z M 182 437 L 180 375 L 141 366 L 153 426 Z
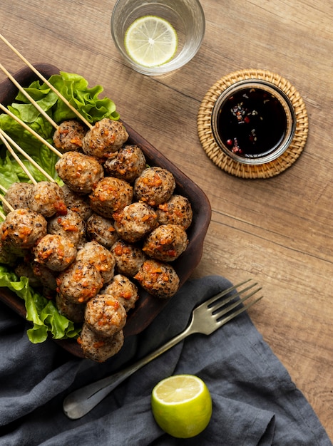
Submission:
M 51 76 L 48 81 L 56 87 L 89 123 L 95 123 L 103 118 L 111 118 L 113 120 L 120 118 L 113 101 L 109 98 L 99 97 L 103 93 L 101 85 L 89 88 L 88 82 L 82 76 L 63 71 L 58 75 Z M 26 91 L 56 123 L 76 118 L 76 114 L 45 83 L 34 81 L 26 88 Z M 8 108 L 11 113 L 18 116 L 44 140 L 52 144 L 53 126 L 39 113 L 23 93 L 19 92 L 15 102 L 9 105 Z M 56 181 L 61 182 L 57 177 L 55 169 L 58 157 L 43 142 L 34 138 L 28 130 L 25 130 L 14 118 L 6 115 L 6 113 L 0 115 L 0 128 L 28 153 L 43 170 Z M 31 162 L 25 158 L 22 158 L 22 162 L 24 162 L 24 165 L 26 165 L 37 181 L 45 180 L 44 175 Z M 7 189 L 13 182 L 29 181 L 28 175 L 11 157 L 6 147 L 0 144 L 1 186 Z M 1 202 L 0 212 L 4 214 Z M 75 338 L 78 336 L 81 328 L 76 327 L 73 322 L 59 314 L 53 301 L 34 291 L 29 286 L 29 279 L 17 277 L 14 271 L 1 264 L 0 286 L 9 288 L 21 299 L 24 299 L 26 319 L 32 323 L 32 328 L 27 332 L 32 343 L 43 342 L 50 334 L 54 339 Z

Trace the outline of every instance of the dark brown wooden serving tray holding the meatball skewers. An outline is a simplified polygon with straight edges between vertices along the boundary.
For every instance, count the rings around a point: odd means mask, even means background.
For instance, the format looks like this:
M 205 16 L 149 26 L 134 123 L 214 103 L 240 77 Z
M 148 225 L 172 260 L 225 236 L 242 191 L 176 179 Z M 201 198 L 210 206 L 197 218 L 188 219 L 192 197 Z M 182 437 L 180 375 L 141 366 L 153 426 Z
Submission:
M 49 78 L 51 75 L 59 73 L 58 68 L 45 63 L 38 63 L 35 67 L 45 78 Z M 15 73 L 14 78 L 16 78 L 16 81 L 18 81 L 20 85 L 28 86 L 31 82 L 36 81 L 38 77 L 30 68 L 26 67 Z M 17 93 L 18 90 L 16 86 L 11 83 L 9 79 L 0 83 L 0 103 L 3 105 L 10 105 L 13 103 Z M 177 260 L 173 261 L 173 267 L 180 277 L 180 286 L 182 286 L 201 259 L 205 234 L 208 230 L 208 225 L 210 224 L 210 202 L 200 187 L 195 185 L 195 183 L 183 174 L 178 167 L 173 165 L 173 163 L 158 152 L 153 145 L 136 133 L 133 128 L 130 128 L 126 123 L 123 124 L 129 134 L 128 142 L 130 144 L 138 145 L 143 150 L 149 165 L 165 167 L 165 169 L 170 170 L 175 176 L 177 184 L 175 192 L 188 197 L 193 207 L 193 223 L 188 229 L 188 248 Z M 168 299 L 157 299 L 154 296 L 150 296 L 150 294 L 143 291 L 143 289 L 140 289 L 139 295 L 140 298 L 138 299 L 135 308 L 128 314 L 128 320 L 124 329 L 125 336 L 131 336 L 143 331 L 143 329 L 153 321 L 155 316 L 158 315 L 169 301 Z M 25 318 L 26 308 L 24 306 L 24 301 L 16 296 L 16 294 L 9 289 L 0 288 L 0 299 L 16 311 L 16 313 L 19 313 L 19 315 Z M 81 348 L 76 341 L 64 340 L 57 342 L 67 351 L 73 353 L 73 355 L 83 357 Z

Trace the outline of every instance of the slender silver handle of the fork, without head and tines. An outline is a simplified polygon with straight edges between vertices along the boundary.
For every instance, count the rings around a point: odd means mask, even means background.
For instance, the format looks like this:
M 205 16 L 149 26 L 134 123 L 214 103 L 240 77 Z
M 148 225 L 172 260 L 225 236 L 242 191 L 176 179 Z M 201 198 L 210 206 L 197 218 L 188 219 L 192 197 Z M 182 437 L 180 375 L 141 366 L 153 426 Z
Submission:
M 82 388 L 79 388 L 78 390 L 74 390 L 73 393 L 67 395 L 65 400 L 63 400 L 63 412 L 68 418 L 71 418 L 71 420 L 77 420 L 78 418 L 83 417 L 83 415 L 86 415 L 93 408 L 95 408 L 98 403 L 101 403 L 101 400 L 106 398 L 106 395 L 111 393 L 111 391 L 116 388 L 117 385 L 122 383 L 130 375 L 133 375 L 136 370 L 143 367 L 143 365 L 148 364 L 150 361 L 153 361 L 153 359 L 162 355 L 162 353 L 165 353 L 165 351 L 168 351 L 191 333 L 193 333 L 193 331 L 191 331 L 191 327 L 188 326 L 188 328 L 186 328 L 185 331 L 180 333 L 178 336 L 170 339 L 170 341 L 165 343 L 157 350 L 148 354 L 136 363 L 129 365 L 120 372 L 114 373 L 106 378 L 102 378 L 101 380 L 88 384 Z

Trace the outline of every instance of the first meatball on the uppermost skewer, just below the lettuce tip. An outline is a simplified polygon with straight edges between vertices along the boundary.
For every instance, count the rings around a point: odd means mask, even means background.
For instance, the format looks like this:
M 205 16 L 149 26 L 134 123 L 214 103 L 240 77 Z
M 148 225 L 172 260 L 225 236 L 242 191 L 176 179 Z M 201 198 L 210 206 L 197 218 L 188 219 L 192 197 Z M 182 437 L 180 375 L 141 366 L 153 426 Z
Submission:
M 104 158 L 116 152 L 128 140 L 128 133 L 119 121 L 104 118 L 88 130 L 83 138 L 83 152 Z

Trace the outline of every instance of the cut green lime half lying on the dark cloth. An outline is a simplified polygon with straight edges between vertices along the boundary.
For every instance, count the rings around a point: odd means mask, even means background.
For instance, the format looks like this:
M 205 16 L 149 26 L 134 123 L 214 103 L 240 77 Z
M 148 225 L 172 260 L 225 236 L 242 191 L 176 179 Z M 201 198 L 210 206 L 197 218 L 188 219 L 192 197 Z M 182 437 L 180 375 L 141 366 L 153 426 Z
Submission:
M 155 385 L 151 408 L 155 421 L 165 432 L 177 438 L 190 438 L 208 426 L 212 398 L 198 376 L 173 375 Z

